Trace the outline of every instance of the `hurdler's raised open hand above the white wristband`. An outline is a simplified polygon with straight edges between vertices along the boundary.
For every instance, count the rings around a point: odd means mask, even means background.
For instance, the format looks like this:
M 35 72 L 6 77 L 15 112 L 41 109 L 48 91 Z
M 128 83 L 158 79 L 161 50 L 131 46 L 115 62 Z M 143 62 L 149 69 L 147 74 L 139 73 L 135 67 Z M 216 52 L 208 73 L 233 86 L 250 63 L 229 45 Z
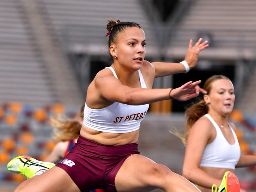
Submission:
M 207 48 L 209 45 L 207 44 L 208 41 L 202 42 L 202 38 L 200 38 L 194 46 L 193 40 L 190 39 L 188 49 L 187 49 L 187 54 L 185 56 L 185 61 L 189 65 L 189 68 L 194 68 L 197 65 L 197 60 L 198 60 L 198 55 L 200 51 L 204 50 Z

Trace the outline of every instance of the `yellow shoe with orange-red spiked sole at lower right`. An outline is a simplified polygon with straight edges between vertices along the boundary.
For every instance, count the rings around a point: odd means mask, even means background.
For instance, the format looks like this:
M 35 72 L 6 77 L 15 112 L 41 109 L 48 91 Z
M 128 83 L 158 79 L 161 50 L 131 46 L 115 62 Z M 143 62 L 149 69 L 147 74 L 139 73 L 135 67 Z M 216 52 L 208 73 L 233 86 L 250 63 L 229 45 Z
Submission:
M 217 192 L 217 185 L 211 187 L 211 191 Z M 225 172 L 218 192 L 240 192 L 240 183 L 233 172 Z

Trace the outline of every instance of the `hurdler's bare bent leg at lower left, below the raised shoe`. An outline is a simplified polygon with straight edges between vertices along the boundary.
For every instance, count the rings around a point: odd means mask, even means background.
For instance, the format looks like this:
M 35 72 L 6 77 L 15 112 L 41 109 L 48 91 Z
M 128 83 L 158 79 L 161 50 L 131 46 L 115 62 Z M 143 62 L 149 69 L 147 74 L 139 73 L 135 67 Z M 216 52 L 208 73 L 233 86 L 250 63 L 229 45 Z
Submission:
M 78 186 L 67 172 L 59 167 L 53 167 L 42 175 L 35 175 L 26 183 L 20 184 L 15 192 L 80 192 Z

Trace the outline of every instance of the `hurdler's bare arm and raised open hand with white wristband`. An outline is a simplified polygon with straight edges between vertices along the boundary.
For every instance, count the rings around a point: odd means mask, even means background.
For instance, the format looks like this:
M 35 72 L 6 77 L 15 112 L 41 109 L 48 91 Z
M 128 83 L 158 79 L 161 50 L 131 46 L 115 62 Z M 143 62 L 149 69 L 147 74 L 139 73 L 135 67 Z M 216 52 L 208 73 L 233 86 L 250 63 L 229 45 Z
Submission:
M 202 38 L 200 38 L 196 44 L 192 46 L 193 41 L 190 39 L 185 56 L 185 61 L 187 62 L 189 69 L 192 69 L 197 65 L 198 55 L 202 50 L 209 46 L 207 43 L 208 41 L 202 42 Z M 156 70 L 155 78 L 183 73 L 186 71 L 186 68 L 181 63 L 152 62 L 152 65 Z

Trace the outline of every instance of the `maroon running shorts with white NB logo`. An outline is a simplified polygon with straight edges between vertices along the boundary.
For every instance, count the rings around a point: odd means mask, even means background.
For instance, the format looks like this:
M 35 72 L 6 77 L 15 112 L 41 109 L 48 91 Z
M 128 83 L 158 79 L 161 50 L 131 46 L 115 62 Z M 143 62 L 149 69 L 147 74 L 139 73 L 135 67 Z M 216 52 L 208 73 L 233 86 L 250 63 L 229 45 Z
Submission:
M 132 154 L 139 154 L 138 143 L 109 146 L 80 136 L 69 154 L 56 166 L 69 174 L 81 192 L 96 188 L 117 192 L 115 176 Z

